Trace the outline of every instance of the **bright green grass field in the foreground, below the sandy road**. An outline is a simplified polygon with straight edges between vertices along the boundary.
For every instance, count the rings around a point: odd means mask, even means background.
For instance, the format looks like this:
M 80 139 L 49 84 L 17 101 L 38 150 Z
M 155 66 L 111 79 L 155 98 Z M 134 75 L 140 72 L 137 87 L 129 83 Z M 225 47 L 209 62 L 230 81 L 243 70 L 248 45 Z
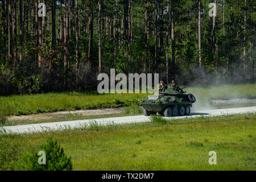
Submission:
M 255 170 L 255 133 L 254 113 L 3 135 L 0 170 L 15 169 L 48 138 L 72 157 L 74 170 Z M 216 165 L 209 151 L 217 152 Z

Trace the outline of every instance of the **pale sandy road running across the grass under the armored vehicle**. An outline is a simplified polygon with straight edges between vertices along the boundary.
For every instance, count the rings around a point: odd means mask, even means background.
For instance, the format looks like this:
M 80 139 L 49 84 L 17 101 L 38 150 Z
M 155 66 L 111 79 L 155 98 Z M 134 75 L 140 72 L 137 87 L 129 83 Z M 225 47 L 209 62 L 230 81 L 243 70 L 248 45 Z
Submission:
M 183 117 L 168 117 L 167 119 L 180 119 L 180 118 L 192 118 L 205 116 L 216 116 L 216 115 L 226 115 L 226 114 L 242 114 L 242 113 L 256 113 L 256 106 L 254 107 L 237 107 L 229 109 L 214 109 L 214 110 L 198 110 L 191 113 L 189 116 Z M 107 124 L 107 123 L 137 123 L 137 122 L 147 122 L 150 121 L 150 117 L 145 117 L 144 115 L 135 115 L 128 117 L 114 117 L 114 118 L 99 118 L 93 119 L 97 123 Z M 18 126 L 5 126 L 1 127 L 0 130 L 2 134 L 8 133 L 31 133 L 40 132 L 45 130 L 57 130 L 65 128 L 79 128 L 85 125 L 90 125 L 92 119 L 83 119 L 78 121 L 64 121 L 64 122 L 53 122 L 53 123 L 38 123 L 31 125 L 18 125 Z

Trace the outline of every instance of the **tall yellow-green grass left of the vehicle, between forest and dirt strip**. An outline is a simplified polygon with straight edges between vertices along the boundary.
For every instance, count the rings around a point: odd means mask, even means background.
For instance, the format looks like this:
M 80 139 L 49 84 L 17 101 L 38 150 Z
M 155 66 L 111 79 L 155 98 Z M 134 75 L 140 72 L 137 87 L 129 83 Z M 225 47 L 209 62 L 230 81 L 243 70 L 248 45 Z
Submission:
M 148 94 L 48 93 L 0 97 L 0 107 L 11 107 L 11 114 L 32 114 L 61 110 L 98 109 L 138 105 Z

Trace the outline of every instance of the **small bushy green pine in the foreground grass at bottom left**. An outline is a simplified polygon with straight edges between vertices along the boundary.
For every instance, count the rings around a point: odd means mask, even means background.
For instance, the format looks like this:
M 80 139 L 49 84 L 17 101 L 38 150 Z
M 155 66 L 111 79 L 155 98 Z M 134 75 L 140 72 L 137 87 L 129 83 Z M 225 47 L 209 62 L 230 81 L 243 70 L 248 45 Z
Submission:
M 47 143 L 40 147 L 40 151 L 46 152 L 46 164 L 39 164 L 40 155 L 24 155 L 23 163 L 19 166 L 21 170 L 28 171 L 69 171 L 72 170 L 71 158 L 64 154 L 63 148 L 57 144 L 57 140 L 49 138 Z

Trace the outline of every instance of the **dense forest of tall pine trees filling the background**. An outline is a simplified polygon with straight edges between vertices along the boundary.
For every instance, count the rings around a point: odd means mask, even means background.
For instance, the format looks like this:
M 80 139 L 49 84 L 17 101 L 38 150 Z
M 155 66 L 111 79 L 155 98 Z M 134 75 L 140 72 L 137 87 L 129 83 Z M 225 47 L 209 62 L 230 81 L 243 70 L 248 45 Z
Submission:
M 254 82 L 255 24 L 254 0 L 3 0 L 0 94 L 94 90 L 111 68 L 179 84 Z

